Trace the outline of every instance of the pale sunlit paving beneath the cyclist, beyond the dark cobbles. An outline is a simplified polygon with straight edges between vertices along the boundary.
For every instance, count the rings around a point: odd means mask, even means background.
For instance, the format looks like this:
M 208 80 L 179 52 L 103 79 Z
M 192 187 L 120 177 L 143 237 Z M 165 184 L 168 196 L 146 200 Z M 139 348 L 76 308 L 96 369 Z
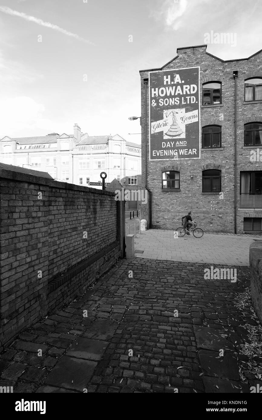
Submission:
M 134 233 L 134 223 L 130 226 L 130 233 Z M 139 227 L 139 222 L 137 225 Z M 135 256 L 153 260 L 249 265 L 249 246 L 256 239 L 261 239 L 261 235 L 204 233 L 202 238 L 195 238 L 191 232 L 190 236 L 174 238 L 173 230 L 150 229 L 137 235 Z

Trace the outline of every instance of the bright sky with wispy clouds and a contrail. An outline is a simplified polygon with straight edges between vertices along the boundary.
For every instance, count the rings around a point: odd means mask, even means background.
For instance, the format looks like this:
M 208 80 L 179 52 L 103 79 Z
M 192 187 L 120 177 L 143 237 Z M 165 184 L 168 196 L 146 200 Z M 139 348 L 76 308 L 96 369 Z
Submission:
M 261 0 L 0 0 L 0 138 L 119 134 L 140 143 L 139 70 L 208 43 L 224 60 L 262 49 Z M 206 34 L 230 33 L 214 44 Z

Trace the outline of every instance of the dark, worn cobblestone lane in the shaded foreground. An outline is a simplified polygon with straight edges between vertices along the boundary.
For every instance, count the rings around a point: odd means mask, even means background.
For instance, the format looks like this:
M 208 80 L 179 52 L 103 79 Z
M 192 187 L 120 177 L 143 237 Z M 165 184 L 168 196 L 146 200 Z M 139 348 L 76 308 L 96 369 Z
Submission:
M 234 303 L 249 285 L 249 268 L 237 267 L 236 283 L 205 280 L 204 268 L 119 261 L 5 349 L 0 386 L 28 393 L 250 392 L 259 381 L 246 373 L 249 382 L 241 382 L 246 356 L 239 349 L 249 341 L 244 325 L 257 322 Z

